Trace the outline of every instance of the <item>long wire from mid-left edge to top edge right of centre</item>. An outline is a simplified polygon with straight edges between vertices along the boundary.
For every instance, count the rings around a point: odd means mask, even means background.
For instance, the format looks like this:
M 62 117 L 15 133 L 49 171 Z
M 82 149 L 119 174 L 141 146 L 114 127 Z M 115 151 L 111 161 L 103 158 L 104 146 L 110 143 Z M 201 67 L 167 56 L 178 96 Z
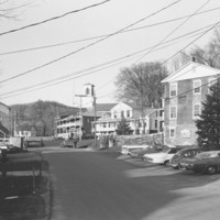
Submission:
M 107 38 L 109 38 L 109 37 L 111 37 L 111 36 L 113 36 L 113 35 L 117 35 L 117 34 L 123 32 L 124 30 L 127 30 L 127 29 L 129 29 L 129 28 L 131 28 L 131 26 L 133 26 L 133 25 L 135 25 L 135 24 L 138 24 L 138 23 L 140 23 L 140 22 L 142 22 L 142 21 L 144 21 L 144 20 L 146 20 L 146 19 L 148 19 L 148 18 L 151 18 L 151 16 L 153 16 L 153 15 L 155 15 L 155 14 L 157 14 L 157 13 L 164 11 L 164 10 L 166 10 L 166 9 L 168 9 L 168 8 L 170 8 L 172 6 L 174 6 L 174 4 L 176 4 L 176 3 L 180 2 L 180 1 L 182 1 L 182 0 L 177 0 L 177 1 L 175 1 L 175 2 L 173 2 L 173 3 L 170 3 L 170 4 L 168 4 L 167 7 L 164 7 L 164 8 L 160 9 L 158 11 L 153 12 L 152 14 L 150 14 L 150 15 L 147 15 L 147 16 L 141 19 L 141 20 L 138 20 L 136 22 L 134 22 L 134 23 L 132 23 L 132 24 L 130 24 L 130 25 L 128 25 L 128 26 L 125 26 L 125 28 L 123 28 L 123 29 L 121 29 L 121 30 L 119 30 L 119 31 L 117 31 L 117 32 L 113 32 L 112 34 L 109 34 L 109 35 L 107 35 L 107 36 L 105 36 L 105 37 L 102 37 L 102 38 L 100 38 L 100 40 L 98 40 L 98 41 L 96 41 L 96 42 L 94 42 L 94 43 L 90 43 L 90 44 L 88 44 L 88 45 L 86 45 L 86 46 L 84 46 L 84 47 L 80 47 L 79 50 L 76 50 L 76 51 L 74 51 L 74 52 L 70 52 L 70 53 L 68 53 L 68 54 L 66 54 L 66 55 L 64 55 L 64 56 L 61 56 L 61 57 L 58 57 L 58 58 L 56 58 L 56 59 L 53 59 L 53 61 L 51 61 L 51 62 L 48 62 L 48 63 L 45 63 L 45 64 L 41 65 L 41 66 L 34 67 L 34 68 L 32 68 L 32 69 L 30 69 L 30 70 L 24 72 L 24 73 L 18 74 L 18 75 L 12 76 L 12 77 L 9 77 L 9 78 L 7 78 L 7 79 L 3 79 L 3 80 L 0 81 L 0 84 L 1 84 L 1 82 L 6 82 L 6 81 L 9 81 L 9 80 L 12 80 L 12 79 L 15 79 L 15 78 L 21 77 L 21 76 L 24 76 L 24 75 L 26 75 L 26 74 L 30 74 L 30 73 L 32 73 L 32 72 L 35 72 L 35 70 L 37 70 L 37 69 L 41 69 L 41 68 L 43 68 L 43 67 L 46 67 L 46 66 L 48 66 L 48 65 L 52 65 L 52 64 L 54 64 L 54 63 L 56 63 L 56 62 L 59 62 L 59 61 L 62 61 L 62 59 L 64 59 L 64 58 L 67 58 L 68 56 L 72 56 L 72 55 L 74 55 L 74 54 L 76 54 L 76 53 L 78 53 L 78 52 L 80 52 L 80 51 L 84 51 L 84 50 L 86 50 L 86 48 L 88 48 L 88 47 L 90 47 L 90 46 L 94 46 L 94 45 L 96 45 L 96 44 L 98 44 L 98 43 L 100 43 L 100 42 L 102 42 L 102 41 L 105 41 L 105 40 L 107 40 Z

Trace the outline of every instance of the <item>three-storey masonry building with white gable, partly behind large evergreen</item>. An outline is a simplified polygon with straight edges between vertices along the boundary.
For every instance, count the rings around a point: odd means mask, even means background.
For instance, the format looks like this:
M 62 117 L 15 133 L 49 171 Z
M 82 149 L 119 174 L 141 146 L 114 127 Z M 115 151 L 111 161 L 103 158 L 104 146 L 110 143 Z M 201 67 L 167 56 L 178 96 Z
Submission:
M 217 77 L 220 77 L 219 69 L 190 62 L 162 81 L 165 86 L 165 144 L 196 144 L 195 120 L 199 118 L 202 101 Z

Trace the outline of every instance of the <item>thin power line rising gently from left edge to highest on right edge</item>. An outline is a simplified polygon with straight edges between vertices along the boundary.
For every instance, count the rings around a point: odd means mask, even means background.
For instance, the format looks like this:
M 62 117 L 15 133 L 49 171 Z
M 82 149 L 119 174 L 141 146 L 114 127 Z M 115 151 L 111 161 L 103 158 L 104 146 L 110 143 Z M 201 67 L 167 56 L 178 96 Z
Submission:
M 213 8 L 213 9 L 210 9 L 210 10 L 206 10 L 206 11 L 201 11 L 201 12 L 195 13 L 195 15 L 200 15 L 202 13 L 208 13 L 210 11 L 215 11 L 215 10 L 219 10 L 219 9 L 220 9 L 220 7 Z M 135 29 L 129 29 L 129 30 L 125 30 L 125 31 L 123 31 L 121 33 L 128 33 L 128 32 L 143 30 L 143 29 L 147 29 L 147 28 L 152 28 L 152 26 L 157 26 L 157 25 L 175 22 L 175 21 L 188 18 L 188 16 L 191 16 L 191 14 L 188 14 L 186 16 L 179 16 L 179 18 L 172 19 L 172 20 L 166 20 L 166 21 L 163 21 L 163 22 L 157 22 L 157 23 L 144 25 L 144 26 L 139 26 L 139 28 L 135 28 Z M 43 46 L 36 46 L 36 47 L 29 47 L 29 48 L 23 48 L 23 50 L 3 52 L 3 53 L 0 53 L 0 56 L 10 55 L 10 54 L 16 54 L 16 53 L 31 52 L 31 51 L 38 51 L 38 50 L 44 50 L 44 48 L 52 48 L 52 47 L 57 47 L 57 46 L 64 46 L 64 45 L 68 45 L 68 44 L 75 44 L 75 43 L 91 41 L 91 40 L 96 40 L 96 38 L 101 38 L 101 37 L 107 36 L 107 35 L 108 34 L 102 34 L 102 35 L 98 35 L 98 36 L 91 36 L 91 37 L 80 38 L 80 40 L 75 40 L 75 41 L 61 42 L 61 43 L 56 43 L 56 44 L 48 44 L 48 45 L 43 45 Z

